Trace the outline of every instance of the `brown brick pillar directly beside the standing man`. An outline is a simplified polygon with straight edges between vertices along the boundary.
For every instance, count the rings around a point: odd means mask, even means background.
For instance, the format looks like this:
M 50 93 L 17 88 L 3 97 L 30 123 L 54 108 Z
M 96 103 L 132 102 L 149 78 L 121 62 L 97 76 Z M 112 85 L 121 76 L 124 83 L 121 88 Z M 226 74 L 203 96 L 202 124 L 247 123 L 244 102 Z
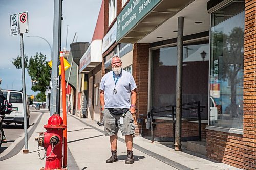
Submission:
M 138 125 L 137 123 L 138 115 L 147 115 L 149 47 L 149 44 L 136 43 L 133 48 L 133 77 L 138 87 L 136 107 L 139 110 L 135 118 L 136 136 L 139 135 L 139 130 L 141 128 L 141 124 Z M 144 116 L 144 118 L 146 118 L 146 116 Z

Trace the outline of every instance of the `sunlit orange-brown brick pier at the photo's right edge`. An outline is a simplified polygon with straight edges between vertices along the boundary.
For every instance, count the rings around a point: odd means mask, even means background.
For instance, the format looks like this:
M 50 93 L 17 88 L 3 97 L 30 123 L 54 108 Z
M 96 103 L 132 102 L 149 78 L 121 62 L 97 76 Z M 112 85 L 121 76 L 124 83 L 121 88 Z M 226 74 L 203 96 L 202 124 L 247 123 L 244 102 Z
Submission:
M 256 169 L 256 86 L 255 86 L 255 37 L 256 37 L 256 2 L 245 1 L 244 33 L 244 169 Z

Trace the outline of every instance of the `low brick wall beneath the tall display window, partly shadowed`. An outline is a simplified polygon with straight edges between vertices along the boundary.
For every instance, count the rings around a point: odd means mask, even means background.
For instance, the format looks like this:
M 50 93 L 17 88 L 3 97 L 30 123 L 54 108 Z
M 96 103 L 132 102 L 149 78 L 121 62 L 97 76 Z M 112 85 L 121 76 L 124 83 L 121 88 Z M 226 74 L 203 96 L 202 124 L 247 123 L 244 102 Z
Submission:
M 243 135 L 207 130 L 207 156 L 243 168 Z

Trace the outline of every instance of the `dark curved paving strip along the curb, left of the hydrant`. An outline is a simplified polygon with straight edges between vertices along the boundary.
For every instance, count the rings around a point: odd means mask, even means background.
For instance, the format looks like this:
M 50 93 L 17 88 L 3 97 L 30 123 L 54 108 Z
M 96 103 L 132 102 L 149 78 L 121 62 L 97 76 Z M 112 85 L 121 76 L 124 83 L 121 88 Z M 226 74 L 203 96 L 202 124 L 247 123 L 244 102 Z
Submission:
M 36 127 L 38 126 L 42 115 L 44 115 L 44 113 L 41 113 L 41 115 L 37 118 L 37 120 L 35 121 L 35 124 L 33 125 L 32 128 L 30 128 L 29 132 L 28 132 L 28 140 L 30 139 L 30 137 L 32 136 L 33 132 L 35 131 Z M 20 150 L 22 150 L 22 148 L 24 147 L 25 143 L 24 143 L 24 138 L 25 138 L 25 134 L 23 134 L 22 136 L 20 136 L 18 139 L 16 139 L 15 141 L 17 141 L 16 144 L 13 144 L 13 148 L 11 149 L 11 151 L 6 151 L 8 152 L 6 155 L 4 155 L 3 157 L 0 158 L 0 161 L 9 159 L 15 155 L 17 155 Z M 8 147 L 9 148 L 9 147 Z

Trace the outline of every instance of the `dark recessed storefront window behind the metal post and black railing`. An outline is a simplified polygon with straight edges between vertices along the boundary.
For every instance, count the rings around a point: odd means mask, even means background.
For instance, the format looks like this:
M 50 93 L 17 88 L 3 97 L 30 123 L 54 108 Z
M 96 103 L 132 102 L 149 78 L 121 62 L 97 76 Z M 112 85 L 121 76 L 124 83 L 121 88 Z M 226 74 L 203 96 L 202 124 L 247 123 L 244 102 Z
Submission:
M 204 55 L 202 55 L 202 54 Z M 152 107 L 176 103 L 177 47 L 152 51 Z M 183 46 L 182 103 L 200 101 L 206 106 L 201 114 L 208 117 L 209 44 Z M 182 116 L 197 117 L 197 110 L 183 111 Z

